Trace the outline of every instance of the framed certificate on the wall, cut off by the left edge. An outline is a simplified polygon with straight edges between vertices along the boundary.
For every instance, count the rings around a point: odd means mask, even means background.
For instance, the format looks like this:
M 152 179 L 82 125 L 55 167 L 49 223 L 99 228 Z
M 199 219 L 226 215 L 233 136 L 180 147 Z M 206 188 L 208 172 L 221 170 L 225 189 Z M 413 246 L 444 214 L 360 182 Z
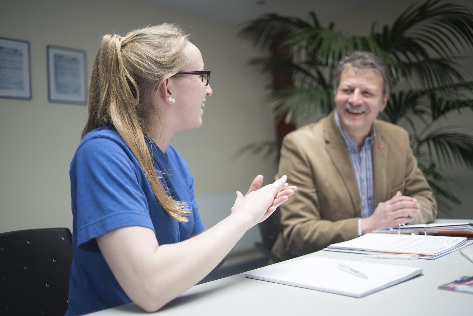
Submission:
M 0 37 L 0 97 L 31 100 L 28 41 Z

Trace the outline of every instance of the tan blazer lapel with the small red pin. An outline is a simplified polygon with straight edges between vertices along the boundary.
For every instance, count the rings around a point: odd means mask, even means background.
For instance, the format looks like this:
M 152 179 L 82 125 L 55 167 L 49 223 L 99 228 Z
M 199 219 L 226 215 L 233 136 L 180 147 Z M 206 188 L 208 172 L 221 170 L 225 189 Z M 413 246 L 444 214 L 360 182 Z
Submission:
M 375 208 L 379 202 L 386 201 L 386 170 L 388 150 L 390 149 L 386 143 L 383 131 L 378 127 L 376 121 L 374 122 L 376 129 L 376 140 L 373 143 L 373 173 L 375 186 Z M 388 197 L 388 199 L 390 199 Z

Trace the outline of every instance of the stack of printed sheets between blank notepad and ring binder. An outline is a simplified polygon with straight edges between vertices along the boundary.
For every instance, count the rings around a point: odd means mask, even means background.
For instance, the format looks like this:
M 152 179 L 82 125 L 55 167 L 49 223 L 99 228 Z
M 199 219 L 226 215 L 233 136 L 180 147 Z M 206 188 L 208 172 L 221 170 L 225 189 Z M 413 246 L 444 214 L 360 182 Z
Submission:
M 466 246 L 465 242 L 466 237 L 369 233 L 342 243 L 332 244 L 325 250 L 371 254 L 412 254 L 424 259 L 436 259 Z

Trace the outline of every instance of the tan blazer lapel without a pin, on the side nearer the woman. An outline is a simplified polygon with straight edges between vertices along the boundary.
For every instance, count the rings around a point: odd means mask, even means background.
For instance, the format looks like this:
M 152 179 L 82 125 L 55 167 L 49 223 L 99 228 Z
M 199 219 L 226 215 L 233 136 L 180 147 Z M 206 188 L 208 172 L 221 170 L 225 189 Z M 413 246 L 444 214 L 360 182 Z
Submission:
M 359 200 L 358 184 L 356 183 L 355 173 L 351 166 L 348 150 L 335 123 L 334 111 L 327 116 L 327 119 L 324 122 L 324 137 L 326 144 L 325 150 L 350 194 L 354 217 L 361 216 L 361 202 Z

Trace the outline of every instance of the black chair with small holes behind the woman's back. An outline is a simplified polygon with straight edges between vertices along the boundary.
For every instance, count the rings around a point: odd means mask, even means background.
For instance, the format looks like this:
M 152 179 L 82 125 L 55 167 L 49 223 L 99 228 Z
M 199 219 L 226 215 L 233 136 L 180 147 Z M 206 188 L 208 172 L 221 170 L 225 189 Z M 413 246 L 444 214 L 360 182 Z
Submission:
M 0 315 L 64 315 L 71 237 L 69 228 L 0 234 Z

